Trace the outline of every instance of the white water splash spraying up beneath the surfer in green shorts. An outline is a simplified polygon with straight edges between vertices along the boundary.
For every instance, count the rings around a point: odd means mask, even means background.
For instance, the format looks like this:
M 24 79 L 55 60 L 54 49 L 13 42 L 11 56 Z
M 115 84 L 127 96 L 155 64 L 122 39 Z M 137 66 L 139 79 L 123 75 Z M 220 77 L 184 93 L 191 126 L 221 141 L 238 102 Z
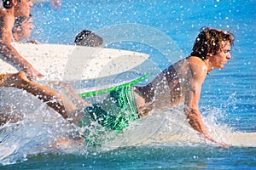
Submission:
M 183 105 L 169 111 L 152 111 L 148 116 L 131 122 L 123 133 L 117 135 L 104 131 L 105 129 L 96 122 L 90 127 L 74 127 L 43 102 L 22 90 L 1 88 L 0 96 L 1 108 L 12 104 L 11 111 L 21 112 L 23 116 L 20 122 L 9 122 L 0 127 L 0 163 L 3 165 L 26 161 L 27 156 L 38 154 L 83 155 L 138 145 L 178 147 L 209 144 L 189 126 L 183 114 Z M 203 122 L 212 138 L 221 142 L 225 140 L 225 134 L 231 133 L 233 129 L 224 122 L 218 122 L 218 117 L 224 119 L 223 109 L 204 108 Z M 78 132 L 85 130 L 89 131 L 90 135 L 95 135 L 96 139 L 101 139 L 102 145 L 91 147 L 83 140 L 65 142 L 65 139 L 75 139 L 76 135 L 79 136 Z M 102 132 L 100 137 L 97 136 L 99 132 Z

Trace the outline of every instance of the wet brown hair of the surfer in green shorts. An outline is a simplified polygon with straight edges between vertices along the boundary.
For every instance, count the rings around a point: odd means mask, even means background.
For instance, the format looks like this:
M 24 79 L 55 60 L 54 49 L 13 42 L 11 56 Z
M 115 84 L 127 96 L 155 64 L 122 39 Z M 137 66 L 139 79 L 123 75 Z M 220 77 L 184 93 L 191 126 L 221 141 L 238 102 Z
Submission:
M 195 38 L 194 47 L 190 55 L 207 59 L 207 54 L 218 54 L 219 49 L 222 48 L 222 42 L 230 42 L 232 46 L 234 40 L 234 35 L 229 31 L 203 27 Z

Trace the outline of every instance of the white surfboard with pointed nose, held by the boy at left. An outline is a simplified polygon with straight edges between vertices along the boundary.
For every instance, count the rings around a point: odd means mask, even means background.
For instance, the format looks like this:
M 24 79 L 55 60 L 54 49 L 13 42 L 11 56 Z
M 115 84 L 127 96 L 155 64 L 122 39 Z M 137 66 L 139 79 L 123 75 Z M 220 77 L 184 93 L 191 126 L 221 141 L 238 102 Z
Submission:
M 14 43 L 20 54 L 44 74 L 39 80 L 78 81 L 113 76 L 140 65 L 148 54 L 113 48 Z M 17 72 L 3 56 L 0 73 Z

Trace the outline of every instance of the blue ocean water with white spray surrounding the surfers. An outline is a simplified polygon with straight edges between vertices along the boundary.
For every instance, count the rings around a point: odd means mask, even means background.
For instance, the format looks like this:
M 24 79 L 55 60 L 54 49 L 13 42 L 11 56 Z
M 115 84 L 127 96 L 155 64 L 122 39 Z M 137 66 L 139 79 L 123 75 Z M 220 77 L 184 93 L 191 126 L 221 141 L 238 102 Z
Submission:
M 256 132 L 256 1 L 63 0 L 57 9 L 47 2 L 35 5 L 32 39 L 73 44 L 79 31 L 95 31 L 104 47 L 150 54 L 154 73 L 148 79 L 189 56 L 201 27 L 233 32 L 232 59 L 207 77 L 201 113 L 216 138 Z M 148 71 L 143 66 L 136 71 Z M 1 107 L 15 105 L 13 112 L 25 115 L 23 121 L 1 127 L 0 151 L 6 154 L 0 169 L 256 169 L 256 147 L 224 149 L 198 140 L 182 108 L 155 111 L 100 148 L 77 143 L 55 148 L 49 144 L 74 132 L 70 124 L 20 90 L 1 88 L 0 99 Z M 179 141 L 170 139 L 177 134 Z

